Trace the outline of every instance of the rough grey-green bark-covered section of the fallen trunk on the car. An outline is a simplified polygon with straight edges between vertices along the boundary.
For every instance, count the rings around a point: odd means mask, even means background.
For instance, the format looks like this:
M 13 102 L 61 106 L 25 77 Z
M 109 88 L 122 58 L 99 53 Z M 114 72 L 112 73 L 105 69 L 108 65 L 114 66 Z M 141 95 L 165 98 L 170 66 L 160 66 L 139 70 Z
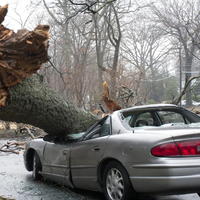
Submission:
M 9 94 L 6 106 L 0 108 L 0 119 L 31 124 L 50 135 L 85 131 L 97 120 L 46 87 L 38 75 L 11 87 Z

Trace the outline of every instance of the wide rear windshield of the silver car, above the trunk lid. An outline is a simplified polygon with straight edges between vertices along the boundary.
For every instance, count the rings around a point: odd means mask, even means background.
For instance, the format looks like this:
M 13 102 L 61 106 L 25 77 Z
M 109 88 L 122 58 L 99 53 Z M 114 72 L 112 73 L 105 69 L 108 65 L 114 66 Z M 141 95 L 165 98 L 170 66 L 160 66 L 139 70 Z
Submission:
M 199 126 L 200 117 L 184 108 L 153 108 L 125 111 L 122 123 L 130 128 L 151 128 L 167 126 Z

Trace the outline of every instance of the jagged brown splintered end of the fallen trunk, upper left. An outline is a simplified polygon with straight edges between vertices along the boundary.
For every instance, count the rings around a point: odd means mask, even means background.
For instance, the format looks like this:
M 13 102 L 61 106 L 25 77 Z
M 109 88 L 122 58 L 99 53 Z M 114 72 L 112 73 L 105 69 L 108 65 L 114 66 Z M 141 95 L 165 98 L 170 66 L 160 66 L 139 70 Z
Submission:
M 33 31 L 17 33 L 1 23 L 8 5 L 0 7 L 0 107 L 6 105 L 8 88 L 35 73 L 48 61 L 49 26 L 38 25 Z

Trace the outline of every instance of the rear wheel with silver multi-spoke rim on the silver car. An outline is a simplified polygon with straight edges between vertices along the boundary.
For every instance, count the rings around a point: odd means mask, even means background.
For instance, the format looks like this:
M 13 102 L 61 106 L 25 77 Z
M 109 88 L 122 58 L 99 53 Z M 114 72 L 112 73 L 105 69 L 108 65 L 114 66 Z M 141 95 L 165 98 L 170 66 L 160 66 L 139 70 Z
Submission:
M 106 165 L 103 173 L 103 191 L 107 200 L 136 200 L 126 169 L 116 161 Z

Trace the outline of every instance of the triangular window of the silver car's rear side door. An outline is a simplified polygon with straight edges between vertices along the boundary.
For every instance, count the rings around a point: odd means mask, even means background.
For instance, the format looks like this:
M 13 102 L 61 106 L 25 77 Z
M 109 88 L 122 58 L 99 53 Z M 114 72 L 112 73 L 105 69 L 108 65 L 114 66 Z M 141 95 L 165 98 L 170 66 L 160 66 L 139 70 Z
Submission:
M 100 121 L 95 127 L 93 127 L 84 137 L 83 140 L 94 139 L 111 134 L 110 116 L 105 120 Z

